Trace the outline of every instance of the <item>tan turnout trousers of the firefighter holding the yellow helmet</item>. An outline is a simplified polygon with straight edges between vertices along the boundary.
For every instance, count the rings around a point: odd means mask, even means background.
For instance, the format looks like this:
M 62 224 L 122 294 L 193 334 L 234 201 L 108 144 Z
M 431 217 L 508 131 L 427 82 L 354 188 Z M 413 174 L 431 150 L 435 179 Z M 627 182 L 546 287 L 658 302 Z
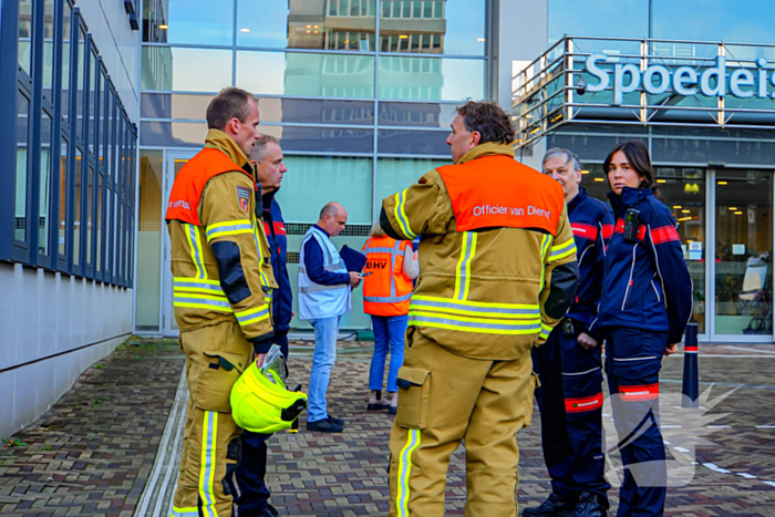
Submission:
M 225 483 L 240 459 L 240 434 L 229 394 L 249 364 L 252 345 L 236 322 L 180 332 L 186 354 L 188 417 L 172 517 L 230 517 L 231 489 Z

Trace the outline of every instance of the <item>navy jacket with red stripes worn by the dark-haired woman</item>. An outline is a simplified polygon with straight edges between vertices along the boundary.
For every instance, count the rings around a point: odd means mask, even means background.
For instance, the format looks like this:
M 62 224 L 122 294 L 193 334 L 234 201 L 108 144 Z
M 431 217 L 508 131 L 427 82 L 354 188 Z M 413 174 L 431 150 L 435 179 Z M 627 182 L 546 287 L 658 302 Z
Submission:
M 617 218 L 604 261 L 600 324 L 668 331 L 678 343 L 692 316 L 692 279 L 683 258 L 678 224 L 651 189 L 622 189 L 608 197 Z M 624 213 L 640 210 L 638 241 L 624 240 Z

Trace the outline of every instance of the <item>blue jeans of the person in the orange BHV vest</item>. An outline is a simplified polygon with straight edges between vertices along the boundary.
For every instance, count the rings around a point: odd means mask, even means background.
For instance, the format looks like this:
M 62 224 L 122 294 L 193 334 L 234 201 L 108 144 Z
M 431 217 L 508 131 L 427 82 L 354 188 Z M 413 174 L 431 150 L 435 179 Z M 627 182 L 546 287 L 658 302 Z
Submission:
M 404 362 L 404 334 L 409 316 L 372 316 L 374 329 L 374 355 L 371 356 L 369 372 L 369 389 L 382 391 L 382 380 L 385 375 L 385 359 L 390 348 L 390 370 L 388 371 L 388 393 L 399 391 L 395 378 Z

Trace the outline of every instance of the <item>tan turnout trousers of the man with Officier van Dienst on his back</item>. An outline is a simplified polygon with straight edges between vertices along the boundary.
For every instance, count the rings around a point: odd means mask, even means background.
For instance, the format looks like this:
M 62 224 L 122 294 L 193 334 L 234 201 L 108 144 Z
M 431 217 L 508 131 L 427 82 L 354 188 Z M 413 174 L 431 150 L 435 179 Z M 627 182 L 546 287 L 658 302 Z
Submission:
M 483 337 L 486 339 L 486 337 Z M 450 455 L 465 441 L 467 517 L 515 517 L 517 432 L 533 415 L 529 352 L 455 355 L 410 328 L 390 437 L 390 516 L 441 517 Z

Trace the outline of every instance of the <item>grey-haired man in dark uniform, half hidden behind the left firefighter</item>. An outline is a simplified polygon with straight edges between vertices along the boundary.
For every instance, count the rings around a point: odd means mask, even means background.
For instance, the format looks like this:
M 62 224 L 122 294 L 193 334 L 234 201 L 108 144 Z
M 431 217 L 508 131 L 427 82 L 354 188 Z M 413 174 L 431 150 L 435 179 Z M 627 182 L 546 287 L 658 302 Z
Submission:
M 282 163 L 280 143 L 270 135 L 261 135 L 256 139 L 249 158 L 256 167 L 257 188 L 259 189 L 256 197 L 261 200 L 261 203 L 256 203 L 256 219 L 264 221 L 264 229 L 269 241 L 271 267 L 277 280 L 277 287 L 272 288 L 271 294 L 271 312 L 275 322 L 272 343 L 280 347 L 282 354 L 288 359 L 288 331 L 293 310 L 293 294 L 286 261 L 288 254 L 286 224 L 282 220 L 280 205 L 275 199 L 275 195 L 280 189 L 282 177 L 288 169 Z M 242 461 L 234 476 L 236 485 L 232 490 L 235 494 L 235 515 L 252 517 L 279 515 L 275 507 L 269 504 L 271 493 L 265 482 L 267 440 L 270 436 L 271 434 L 252 433 L 247 430 L 242 433 Z

